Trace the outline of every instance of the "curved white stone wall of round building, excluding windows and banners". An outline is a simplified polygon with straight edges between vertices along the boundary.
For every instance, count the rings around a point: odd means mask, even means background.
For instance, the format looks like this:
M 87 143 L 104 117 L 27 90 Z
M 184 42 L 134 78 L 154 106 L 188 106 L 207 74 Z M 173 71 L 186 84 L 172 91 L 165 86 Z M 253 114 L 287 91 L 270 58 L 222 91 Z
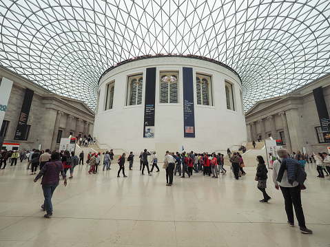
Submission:
M 156 67 L 156 99 L 154 138 L 143 138 L 145 112 L 146 69 Z M 195 138 L 184 137 L 183 116 L 183 67 L 192 67 L 194 80 Z M 160 103 L 161 72 L 178 72 L 178 103 Z M 143 74 L 141 105 L 126 106 L 127 79 Z M 213 105 L 197 105 L 196 74 L 212 78 Z M 112 109 L 105 110 L 107 84 L 114 81 Z M 233 85 L 235 110 L 227 109 L 225 82 Z M 194 58 L 161 57 L 147 58 L 119 65 L 105 74 L 99 83 L 94 136 L 99 144 L 113 149 L 140 153 L 147 148 L 163 153 L 165 150 L 218 151 L 240 145 L 247 140 L 245 116 L 238 76 L 229 69 Z

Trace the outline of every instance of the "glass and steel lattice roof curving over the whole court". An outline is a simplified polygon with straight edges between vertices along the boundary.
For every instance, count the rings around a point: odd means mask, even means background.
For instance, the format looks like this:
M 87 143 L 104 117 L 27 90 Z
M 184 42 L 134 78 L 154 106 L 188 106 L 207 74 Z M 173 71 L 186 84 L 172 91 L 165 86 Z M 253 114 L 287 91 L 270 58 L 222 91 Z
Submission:
M 96 107 L 106 69 L 147 54 L 232 67 L 245 110 L 330 72 L 329 0 L 0 0 L 0 65 Z

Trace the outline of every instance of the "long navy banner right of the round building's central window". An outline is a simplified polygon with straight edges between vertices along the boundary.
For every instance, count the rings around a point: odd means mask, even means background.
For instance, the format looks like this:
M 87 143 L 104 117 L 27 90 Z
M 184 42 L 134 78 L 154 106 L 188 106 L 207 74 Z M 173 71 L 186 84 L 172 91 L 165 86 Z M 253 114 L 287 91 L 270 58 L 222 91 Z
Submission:
M 194 77 L 192 67 L 183 67 L 183 133 L 195 138 Z

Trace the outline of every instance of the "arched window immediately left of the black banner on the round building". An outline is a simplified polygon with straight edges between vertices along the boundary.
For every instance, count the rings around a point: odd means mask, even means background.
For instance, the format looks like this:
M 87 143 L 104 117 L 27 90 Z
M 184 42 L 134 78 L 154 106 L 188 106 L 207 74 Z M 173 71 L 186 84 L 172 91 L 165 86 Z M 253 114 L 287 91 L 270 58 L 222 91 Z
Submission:
M 142 88 L 143 88 L 142 74 L 128 77 L 126 105 L 142 104 Z

